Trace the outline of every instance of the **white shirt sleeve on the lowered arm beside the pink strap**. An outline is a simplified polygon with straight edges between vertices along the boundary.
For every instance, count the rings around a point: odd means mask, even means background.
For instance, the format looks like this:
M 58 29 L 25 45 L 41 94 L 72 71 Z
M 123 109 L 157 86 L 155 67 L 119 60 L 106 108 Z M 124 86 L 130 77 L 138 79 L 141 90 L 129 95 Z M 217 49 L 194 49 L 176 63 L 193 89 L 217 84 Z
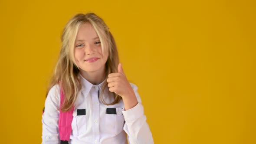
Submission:
M 59 144 L 59 85 L 54 85 L 46 97 L 44 113 L 42 115 L 42 144 Z

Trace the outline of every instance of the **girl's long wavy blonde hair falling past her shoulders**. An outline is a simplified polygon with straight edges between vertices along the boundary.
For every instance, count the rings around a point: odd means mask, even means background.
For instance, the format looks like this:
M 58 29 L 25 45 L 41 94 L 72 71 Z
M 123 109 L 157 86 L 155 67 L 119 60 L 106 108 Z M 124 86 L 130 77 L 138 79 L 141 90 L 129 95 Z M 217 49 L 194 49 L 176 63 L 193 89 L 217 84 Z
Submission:
M 105 63 L 105 79 L 108 74 L 113 72 L 118 72 L 118 51 L 115 44 L 115 39 L 108 30 L 108 26 L 105 22 L 97 16 L 95 13 L 86 14 L 76 14 L 72 17 L 63 29 L 61 40 L 62 48 L 60 50 L 59 59 L 56 64 L 54 74 L 49 82 L 49 87 L 47 89 L 46 96 L 49 90 L 56 84 L 59 83 L 62 92 L 65 95 L 63 103 L 60 106 L 61 111 L 69 111 L 75 103 L 77 95 L 82 88 L 79 81 L 79 67 L 75 63 L 74 58 L 74 46 L 75 38 L 79 29 L 79 26 L 83 23 L 91 23 L 94 27 L 96 33 L 102 44 L 102 53 L 108 51 L 108 59 Z M 112 103 L 107 104 L 103 99 L 103 92 L 107 87 L 107 81 L 102 84 L 102 92 L 100 94 L 100 99 L 105 105 L 114 105 L 118 103 L 121 99 L 120 96 L 114 92 L 109 92 L 115 100 Z

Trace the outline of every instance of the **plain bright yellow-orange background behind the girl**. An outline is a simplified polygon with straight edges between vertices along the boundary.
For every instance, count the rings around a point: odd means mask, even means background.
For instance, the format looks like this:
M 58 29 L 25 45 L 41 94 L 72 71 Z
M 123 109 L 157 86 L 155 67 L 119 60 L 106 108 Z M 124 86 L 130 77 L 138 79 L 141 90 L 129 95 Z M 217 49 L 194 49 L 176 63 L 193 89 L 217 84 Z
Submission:
M 2 144 L 41 143 L 62 29 L 86 12 L 110 27 L 155 144 L 256 144 L 254 0 L 1 0 Z

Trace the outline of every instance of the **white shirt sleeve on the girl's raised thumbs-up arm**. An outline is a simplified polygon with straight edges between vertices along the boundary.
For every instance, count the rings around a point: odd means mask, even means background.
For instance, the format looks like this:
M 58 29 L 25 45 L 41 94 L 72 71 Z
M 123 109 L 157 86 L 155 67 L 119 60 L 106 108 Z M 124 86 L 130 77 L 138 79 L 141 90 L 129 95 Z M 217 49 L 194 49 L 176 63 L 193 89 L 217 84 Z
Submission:
M 130 83 L 138 104 L 126 111 L 122 110 L 125 117 L 124 131 L 128 135 L 129 144 L 154 144 L 149 125 L 146 122 L 146 116 L 144 115 L 144 108 L 141 104 L 141 98 L 138 94 L 138 87 L 135 84 Z

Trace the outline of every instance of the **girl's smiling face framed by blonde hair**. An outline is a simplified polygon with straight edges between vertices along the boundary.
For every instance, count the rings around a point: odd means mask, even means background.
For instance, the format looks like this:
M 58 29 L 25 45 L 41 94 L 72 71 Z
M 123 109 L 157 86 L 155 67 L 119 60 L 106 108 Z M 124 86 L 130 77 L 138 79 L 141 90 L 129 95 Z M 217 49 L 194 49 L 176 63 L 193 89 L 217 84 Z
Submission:
M 79 27 L 74 55 L 77 66 L 85 73 L 104 72 L 108 52 L 103 57 L 101 42 L 91 23 Z

